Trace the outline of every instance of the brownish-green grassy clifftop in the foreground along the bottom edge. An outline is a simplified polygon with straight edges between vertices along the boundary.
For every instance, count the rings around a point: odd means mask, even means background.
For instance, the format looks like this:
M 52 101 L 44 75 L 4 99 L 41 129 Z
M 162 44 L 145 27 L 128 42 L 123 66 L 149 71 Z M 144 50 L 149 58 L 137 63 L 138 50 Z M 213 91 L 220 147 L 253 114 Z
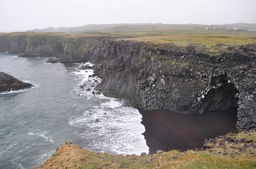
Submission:
M 255 168 L 256 131 L 209 139 L 201 150 L 171 150 L 154 155 L 110 155 L 66 143 L 40 168 Z

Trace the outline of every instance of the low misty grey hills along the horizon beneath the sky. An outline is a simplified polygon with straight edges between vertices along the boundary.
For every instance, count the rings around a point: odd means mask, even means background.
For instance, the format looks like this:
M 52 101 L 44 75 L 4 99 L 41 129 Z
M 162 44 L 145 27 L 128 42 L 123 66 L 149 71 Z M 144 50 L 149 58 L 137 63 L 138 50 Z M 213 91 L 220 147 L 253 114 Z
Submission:
M 140 30 L 158 30 L 158 29 L 205 29 L 210 27 L 213 29 L 226 29 L 228 27 L 237 28 L 238 30 L 256 29 L 256 23 L 236 23 L 224 25 L 200 25 L 200 24 L 162 24 L 162 23 L 135 23 L 135 24 L 90 24 L 76 27 L 48 27 L 46 29 L 33 29 L 28 32 L 66 32 L 66 33 L 82 33 L 82 32 L 130 32 Z

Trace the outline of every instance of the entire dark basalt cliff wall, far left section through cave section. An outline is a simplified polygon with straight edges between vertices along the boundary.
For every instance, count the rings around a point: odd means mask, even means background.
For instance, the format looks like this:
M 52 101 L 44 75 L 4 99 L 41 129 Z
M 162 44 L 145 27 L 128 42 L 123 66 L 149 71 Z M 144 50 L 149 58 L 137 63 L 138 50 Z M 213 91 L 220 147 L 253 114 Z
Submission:
M 0 50 L 49 62 L 103 63 L 104 95 L 144 109 L 202 114 L 238 108 L 238 130 L 256 129 L 256 44 L 180 47 L 120 36 L 32 33 L 0 36 Z

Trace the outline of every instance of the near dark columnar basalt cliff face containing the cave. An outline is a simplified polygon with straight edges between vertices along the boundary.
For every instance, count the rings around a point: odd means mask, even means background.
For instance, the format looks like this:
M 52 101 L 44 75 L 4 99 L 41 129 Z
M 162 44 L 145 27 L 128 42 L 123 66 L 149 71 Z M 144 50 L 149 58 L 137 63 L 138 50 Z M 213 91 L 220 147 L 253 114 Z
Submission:
M 102 53 L 104 72 L 97 88 L 104 95 L 144 109 L 191 114 L 237 106 L 237 129 L 256 129 L 255 44 L 229 46 L 213 55 L 199 44 L 109 40 Z

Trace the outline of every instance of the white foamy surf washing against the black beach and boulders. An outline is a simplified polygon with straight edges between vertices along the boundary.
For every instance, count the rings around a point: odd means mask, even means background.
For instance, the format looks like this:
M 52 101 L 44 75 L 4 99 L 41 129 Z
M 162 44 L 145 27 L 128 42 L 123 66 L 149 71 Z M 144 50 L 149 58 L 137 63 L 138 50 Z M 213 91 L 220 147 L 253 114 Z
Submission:
M 86 63 L 87 64 L 87 63 Z M 80 65 L 81 66 L 81 65 Z M 86 140 L 86 150 L 97 152 L 108 152 L 112 154 L 136 154 L 141 152 L 148 153 L 149 148 L 142 133 L 145 127 L 140 123 L 141 114 L 137 109 L 123 106 L 120 99 L 106 97 L 103 94 L 93 95 L 91 85 L 96 86 L 101 79 L 91 77 L 93 70 L 81 70 L 72 72 L 77 76 L 77 86 L 73 89 L 81 94 L 81 98 L 99 100 L 99 104 L 95 103 L 91 109 L 85 110 L 81 116 L 71 117 L 69 125 L 83 128 L 83 132 L 78 136 Z M 92 80 L 92 81 L 89 81 Z M 90 87 L 90 91 L 80 91 L 80 85 L 85 83 L 86 87 Z M 98 122 L 95 120 L 98 119 Z

